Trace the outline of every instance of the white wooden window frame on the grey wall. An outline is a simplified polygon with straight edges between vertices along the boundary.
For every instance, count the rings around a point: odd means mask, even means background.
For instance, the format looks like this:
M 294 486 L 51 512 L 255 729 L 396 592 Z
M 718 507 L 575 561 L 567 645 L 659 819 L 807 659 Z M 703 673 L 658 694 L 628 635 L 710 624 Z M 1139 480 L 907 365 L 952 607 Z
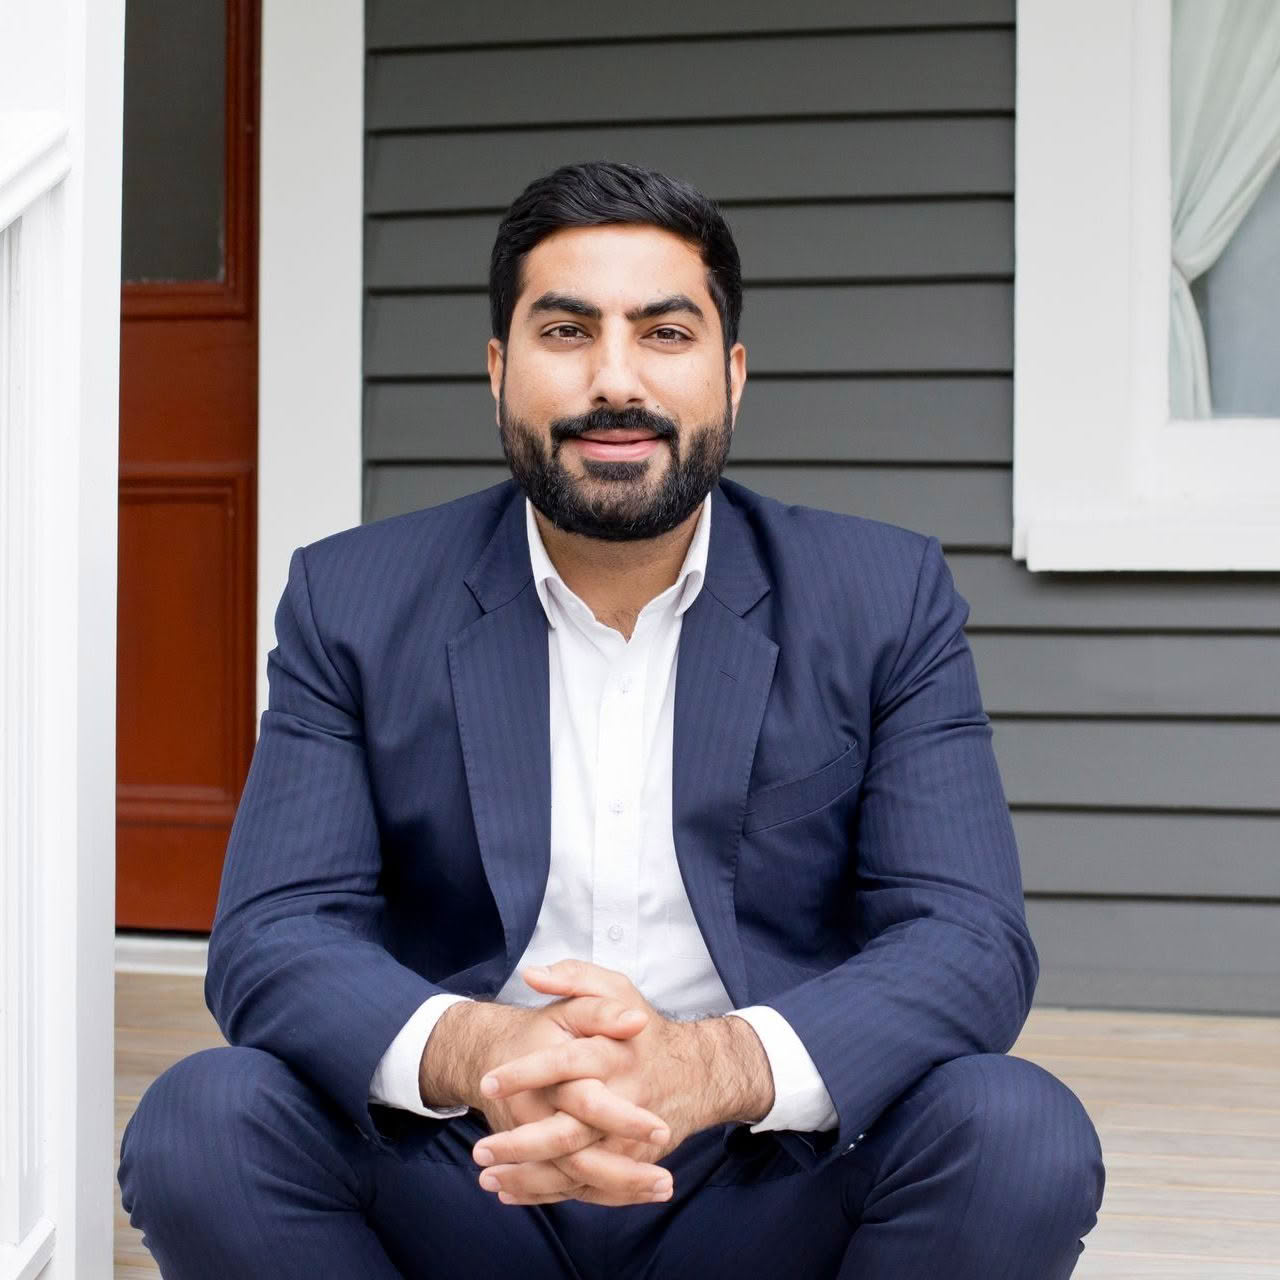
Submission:
M 1280 570 L 1280 420 L 1170 420 L 1170 0 L 1019 0 L 1014 556 Z

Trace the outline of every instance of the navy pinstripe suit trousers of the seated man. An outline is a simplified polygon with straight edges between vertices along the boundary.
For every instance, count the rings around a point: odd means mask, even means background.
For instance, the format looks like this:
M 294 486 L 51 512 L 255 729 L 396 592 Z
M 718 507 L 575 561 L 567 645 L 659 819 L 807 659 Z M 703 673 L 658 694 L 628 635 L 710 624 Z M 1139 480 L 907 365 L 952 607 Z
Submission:
M 124 1208 L 170 1280 L 1061 1280 L 1105 1183 L 1076 1096 L 1004 1053 L 933 1068 L 812 1171 L 744 1126 L 695 1134 L 658 1204 L 503 1204 L 479 1112 L 406 1129 L 379 1149 L 278 1057 L 205 1050 L 125 1128 Z

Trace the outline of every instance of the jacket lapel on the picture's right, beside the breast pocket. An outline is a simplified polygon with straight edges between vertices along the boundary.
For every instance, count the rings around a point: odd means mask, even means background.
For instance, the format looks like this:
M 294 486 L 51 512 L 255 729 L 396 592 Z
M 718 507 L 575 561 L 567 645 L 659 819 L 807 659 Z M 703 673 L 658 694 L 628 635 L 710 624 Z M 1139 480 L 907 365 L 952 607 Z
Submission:
M 737 844 L 778 657 L 741 614 L 768 589 L 746 522 L 717 485 L 707 577 L 680 631 L 672 829 L 694 916 L 735 1006 L 749 1000 L 733 910 Z

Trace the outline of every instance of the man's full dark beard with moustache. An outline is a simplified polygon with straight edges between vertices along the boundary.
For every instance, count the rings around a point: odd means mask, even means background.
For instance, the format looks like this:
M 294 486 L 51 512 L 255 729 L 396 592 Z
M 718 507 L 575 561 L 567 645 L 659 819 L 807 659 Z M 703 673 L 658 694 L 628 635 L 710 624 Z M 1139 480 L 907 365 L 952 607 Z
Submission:
M 727 379 L 726 379 L 727 384 Z M 733 413 L 727 387 L 724 416 L 703 430 L 685 433 L 691 436 L 686 456 L 678 454 L 676 424 L 643 408 L 622 412 L 595 408 L 577 417 L 561 417 L 550 424 L 550 456 L 541 436 L 522 419 L 507 412 L 506 376 L 498 396 L 499 436 L 502 451 L 516 483 L 529 500 L 558 529 L 605 541 L 634 541 L 658 538 L 669 532 L 696 511 L 719 480 L 728 458 L 733 434 Z M 644 430 L 652 431 L 671 451 L 671 466 L 653 493 L 645 484 L 649 460 L 605 462 L 584 458 L 582 468 L 594 480 L 605 481 L 604 492 L 588 497 L 579 481 L 561 465 L 559 451 L 564 440 L 585 431 Z M 653 454 L 650 454 L 653 457 Z

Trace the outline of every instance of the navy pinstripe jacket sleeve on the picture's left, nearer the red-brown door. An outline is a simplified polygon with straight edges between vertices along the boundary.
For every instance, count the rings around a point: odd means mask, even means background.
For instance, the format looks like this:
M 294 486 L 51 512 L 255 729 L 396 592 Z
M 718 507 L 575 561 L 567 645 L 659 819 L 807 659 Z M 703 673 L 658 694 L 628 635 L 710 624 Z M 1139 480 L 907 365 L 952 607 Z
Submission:
M 381 1146 L 369 1111 L 374 1070 L 442 988 L 384 946 L 358 681 L 325 650 L 302 549 L 289 562 L 275 632 L 269 709 L 227 847 L 205 1000 L 232 1044 L 285 1061 Z

